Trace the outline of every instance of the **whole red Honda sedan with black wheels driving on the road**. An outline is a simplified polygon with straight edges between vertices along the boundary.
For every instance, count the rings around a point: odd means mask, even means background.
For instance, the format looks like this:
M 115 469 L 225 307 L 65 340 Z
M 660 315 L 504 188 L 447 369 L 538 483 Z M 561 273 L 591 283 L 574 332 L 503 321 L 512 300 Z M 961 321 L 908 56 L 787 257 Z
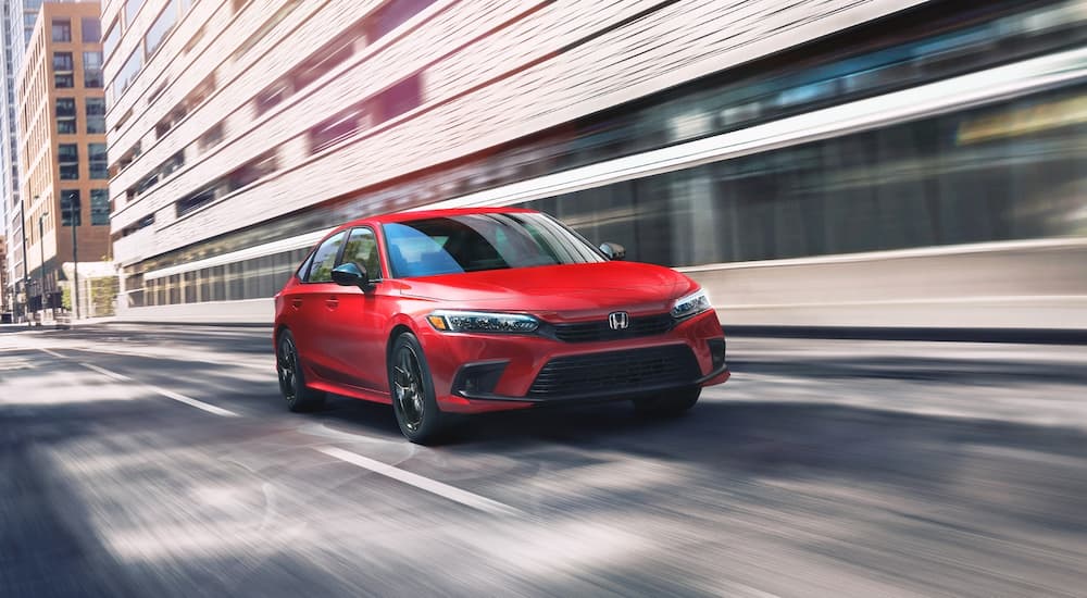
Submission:
M 630 399 L 677 413 L 728 379 L 705 292 L 620 261 L 532 210 L 398 213 L 346 224 L 275 297 L 279 388 L 391 403 L 404 436 L 450 413 Z

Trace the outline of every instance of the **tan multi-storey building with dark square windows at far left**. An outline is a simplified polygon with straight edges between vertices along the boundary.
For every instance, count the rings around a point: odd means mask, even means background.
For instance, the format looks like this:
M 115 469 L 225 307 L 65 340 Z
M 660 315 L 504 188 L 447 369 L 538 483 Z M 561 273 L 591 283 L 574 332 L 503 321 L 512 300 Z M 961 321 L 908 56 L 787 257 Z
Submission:
M 62 264 L 110 260 L 99 5 L 43 3 L 16 80 L 28 303 L 59 307 Z

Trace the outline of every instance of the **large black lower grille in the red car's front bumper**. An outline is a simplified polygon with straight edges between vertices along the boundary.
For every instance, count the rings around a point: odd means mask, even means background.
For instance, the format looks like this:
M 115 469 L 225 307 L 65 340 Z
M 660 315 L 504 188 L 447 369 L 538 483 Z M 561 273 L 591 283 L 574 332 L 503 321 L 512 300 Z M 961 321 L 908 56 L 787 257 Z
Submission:
M 636 391 L 691 383 L 700 373 L 695 353 L 686 345 L 560 357 L 540 370 L 528 396 Z

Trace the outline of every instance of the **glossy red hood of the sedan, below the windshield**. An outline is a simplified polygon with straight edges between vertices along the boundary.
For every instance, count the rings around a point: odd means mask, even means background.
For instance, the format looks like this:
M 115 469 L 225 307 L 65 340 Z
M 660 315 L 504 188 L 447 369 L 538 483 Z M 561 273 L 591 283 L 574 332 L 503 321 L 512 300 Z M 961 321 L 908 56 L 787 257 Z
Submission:
M 616 310 L 660 313 L 698 288 L 683 274 L 637 262 L 599 262 L 488 270 L 401 279 L 402 294 L 448 309 L 532 312 L 577 320 Z

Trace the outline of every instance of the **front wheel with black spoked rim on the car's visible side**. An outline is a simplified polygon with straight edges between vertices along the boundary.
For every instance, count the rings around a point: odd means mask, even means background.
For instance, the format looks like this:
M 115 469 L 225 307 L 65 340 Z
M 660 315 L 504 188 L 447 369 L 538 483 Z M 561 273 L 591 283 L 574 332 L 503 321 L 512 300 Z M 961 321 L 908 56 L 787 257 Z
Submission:
M 403 333 L 397 337 L 388 370 L 392 412 L 404 438 L 416 445 L 438 443 L 448 418 L 438 409 L 430 369 L 415 335 Z

